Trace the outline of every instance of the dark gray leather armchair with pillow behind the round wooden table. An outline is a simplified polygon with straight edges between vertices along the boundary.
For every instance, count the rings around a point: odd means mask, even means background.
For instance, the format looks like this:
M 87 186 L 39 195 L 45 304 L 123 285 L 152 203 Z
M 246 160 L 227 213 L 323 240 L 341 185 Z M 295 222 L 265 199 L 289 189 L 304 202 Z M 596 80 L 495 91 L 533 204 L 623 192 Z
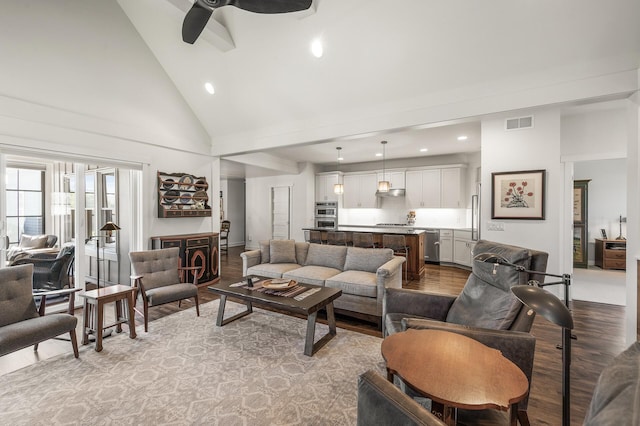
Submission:
M 545 272 L 548 254 L 491 241 L 478 241 L 473 254 L 494 253 L 525 269 Z M 472 273 L 458 296 L 407 289 L 386 289 L 384 334 L 408 328 L 429 328 L 465 334 L 502 351 L 531 381 L 535 338 L 529 334 L 535 313 L 512 293 L 511 287 L 542 275 L 491 263 L 474 262 Z M 528 397 L 518 404 L 522 424 L 528 424 Z M 526 423 L 525 423 L 526 422 Z

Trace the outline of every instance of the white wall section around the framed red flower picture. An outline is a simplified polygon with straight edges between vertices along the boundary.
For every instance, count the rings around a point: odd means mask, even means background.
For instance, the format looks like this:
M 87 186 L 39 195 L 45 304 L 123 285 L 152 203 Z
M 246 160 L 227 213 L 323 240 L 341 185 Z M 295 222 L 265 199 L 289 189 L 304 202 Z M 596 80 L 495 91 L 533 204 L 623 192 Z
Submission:
M 505 130 L 501 116 L 482 120 L 482 238 L 524 246 L 549 253 L 547 271 L 566 271 L 561 259 L 561 215 L 563 213 L 564 172 L 560 164 L 560 112 L 557 109 L 532 110 L 534 127 Z M 544 220 L 499 219 L 504 231 L 489 231 L 491 219 L 491 173 L 546 170 Z M 557 291 L 557 289 L 556 289 Z

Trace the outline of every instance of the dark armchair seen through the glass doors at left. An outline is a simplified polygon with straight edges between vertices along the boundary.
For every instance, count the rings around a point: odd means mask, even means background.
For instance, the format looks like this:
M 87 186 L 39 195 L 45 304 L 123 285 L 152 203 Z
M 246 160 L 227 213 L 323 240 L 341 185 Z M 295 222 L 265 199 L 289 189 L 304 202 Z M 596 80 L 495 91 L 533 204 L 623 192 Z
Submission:
M 13 262 L 13 266 L 31 264 L 34 266 L 33 288 L 60 290 L 72 287 L 69 276 L 72 275 L 75 259 L 75 246 L 65 246 L 57 256 L 34 254 Z

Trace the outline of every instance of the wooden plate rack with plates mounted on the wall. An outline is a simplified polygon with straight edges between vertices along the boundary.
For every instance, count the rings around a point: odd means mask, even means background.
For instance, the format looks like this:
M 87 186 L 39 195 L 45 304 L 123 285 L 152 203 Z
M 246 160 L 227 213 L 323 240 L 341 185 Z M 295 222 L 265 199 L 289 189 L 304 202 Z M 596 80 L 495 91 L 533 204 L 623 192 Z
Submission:
M 211 206 L 205 177 L 158 172 L 158 217 L 207 217 Z

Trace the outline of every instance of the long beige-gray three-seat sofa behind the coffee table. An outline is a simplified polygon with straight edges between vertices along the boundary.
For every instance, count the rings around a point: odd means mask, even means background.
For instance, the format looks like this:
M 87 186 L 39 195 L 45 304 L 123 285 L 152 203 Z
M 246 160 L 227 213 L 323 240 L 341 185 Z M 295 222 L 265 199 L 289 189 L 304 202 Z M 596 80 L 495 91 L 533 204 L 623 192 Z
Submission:
M 342 290 L 334 307 L 381 326 L 386 288 L 402 287 L 404 257 L 391 249 L 331 246 L 294 240 L 261 241 L 241 253 L 242 273 L 286 278 Z

